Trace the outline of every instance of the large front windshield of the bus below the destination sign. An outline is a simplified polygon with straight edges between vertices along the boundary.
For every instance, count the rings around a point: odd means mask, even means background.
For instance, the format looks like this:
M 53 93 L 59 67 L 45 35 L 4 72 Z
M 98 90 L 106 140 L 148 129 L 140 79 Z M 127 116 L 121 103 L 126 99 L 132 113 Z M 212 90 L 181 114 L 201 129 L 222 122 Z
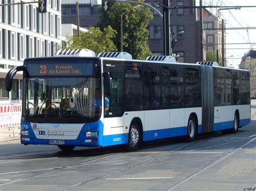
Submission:
M 37 123 L 85 123 L 101 114 L 100 79 L 96 77 L 25 78 L 25 121 Z

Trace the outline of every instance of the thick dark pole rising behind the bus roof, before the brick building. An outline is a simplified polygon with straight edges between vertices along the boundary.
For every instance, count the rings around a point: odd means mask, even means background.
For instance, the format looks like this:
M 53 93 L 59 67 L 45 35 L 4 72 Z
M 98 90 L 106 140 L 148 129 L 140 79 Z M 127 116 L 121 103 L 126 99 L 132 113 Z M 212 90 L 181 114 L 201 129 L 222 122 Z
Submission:
M 171 55 L 171 43 L 170 43 L 170 11 L 169 0 L 163 0 L 163 15 L 164 15 L 164 55 Z

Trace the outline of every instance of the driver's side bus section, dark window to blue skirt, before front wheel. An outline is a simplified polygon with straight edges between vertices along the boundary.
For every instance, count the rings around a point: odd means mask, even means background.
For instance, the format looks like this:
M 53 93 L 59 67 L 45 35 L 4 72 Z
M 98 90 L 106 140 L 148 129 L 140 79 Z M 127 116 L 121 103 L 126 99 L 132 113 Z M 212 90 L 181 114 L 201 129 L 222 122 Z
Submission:
M 104 95 L 104 146 L 124 144 L 123 61 L 103 60 L 103 72 L 111 77 L 111 94 Z M 103 87 L 104 88 L 104 87 Z

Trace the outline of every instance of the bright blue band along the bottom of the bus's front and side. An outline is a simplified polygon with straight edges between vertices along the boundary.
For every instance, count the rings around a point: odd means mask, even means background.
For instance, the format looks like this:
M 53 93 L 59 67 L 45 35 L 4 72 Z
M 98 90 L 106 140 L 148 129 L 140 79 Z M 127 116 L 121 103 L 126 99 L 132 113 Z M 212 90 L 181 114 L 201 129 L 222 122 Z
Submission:
M 240 119 L 239 125 L 245 126 L 251 122 L 251 119 Z M 21 135 L 24 138 L 30 138 L 30 140 L 21 140 L 22 144 L 49 144 L 49 139 L 37 139 L 35 133 L 33 132 L 30 122 L 21 122 L 22 130 L 29 131 L 29 135 Z M 220 131 L 224 129 L 233 128 L 233 121 L 215 123 L 213 126 L 213 131 Z M 98 137 L 86 137 L 87 131 L 97 131 Z M 202 132 L 202 126 L 198 125 L 198 133 Z M 162 139 L 168 137 L 178 137 L 187 135 L 187 127 L 178 127 L 178 128 L 166 128 L 160 130 L 150 130 L 143 132 L 143 140 L 154 140 Z M 97 142 L 85 142 L 85 139 L 97 139 Z M 103 123 L 101 121 L 86 123 L 84 124 L 82 130 L 80 131 L 78 138 L 76 140 L 65 140 L 66 145 L 75 145 L 75 146 L 110 146 L 110 145 L 119 145 L 128 143 L 129 136 L 127 133 L 121 133 L 117 135 L 107 135 L 103 136 Z

